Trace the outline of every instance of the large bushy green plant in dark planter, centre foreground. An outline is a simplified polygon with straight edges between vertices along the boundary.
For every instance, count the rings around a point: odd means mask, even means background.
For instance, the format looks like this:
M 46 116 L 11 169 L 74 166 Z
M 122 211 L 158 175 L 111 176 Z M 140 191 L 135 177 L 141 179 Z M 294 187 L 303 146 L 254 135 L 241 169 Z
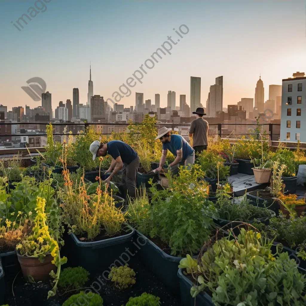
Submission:
M 177 264 L 185 254 L 200 251 L 202 241 L 213 230 L 216 210 L 206 201 L 208 184 L 197 179 L 204 176 L 200 165 L 191 170 L 180 167 L 178 176 L 166 176 L 167 189 L 157 189 L 151 181 L 151 203 L 146 193 L 129 201 L 127 218 L 142 245 L 140 259 L 167 287 L 177 291 Z

